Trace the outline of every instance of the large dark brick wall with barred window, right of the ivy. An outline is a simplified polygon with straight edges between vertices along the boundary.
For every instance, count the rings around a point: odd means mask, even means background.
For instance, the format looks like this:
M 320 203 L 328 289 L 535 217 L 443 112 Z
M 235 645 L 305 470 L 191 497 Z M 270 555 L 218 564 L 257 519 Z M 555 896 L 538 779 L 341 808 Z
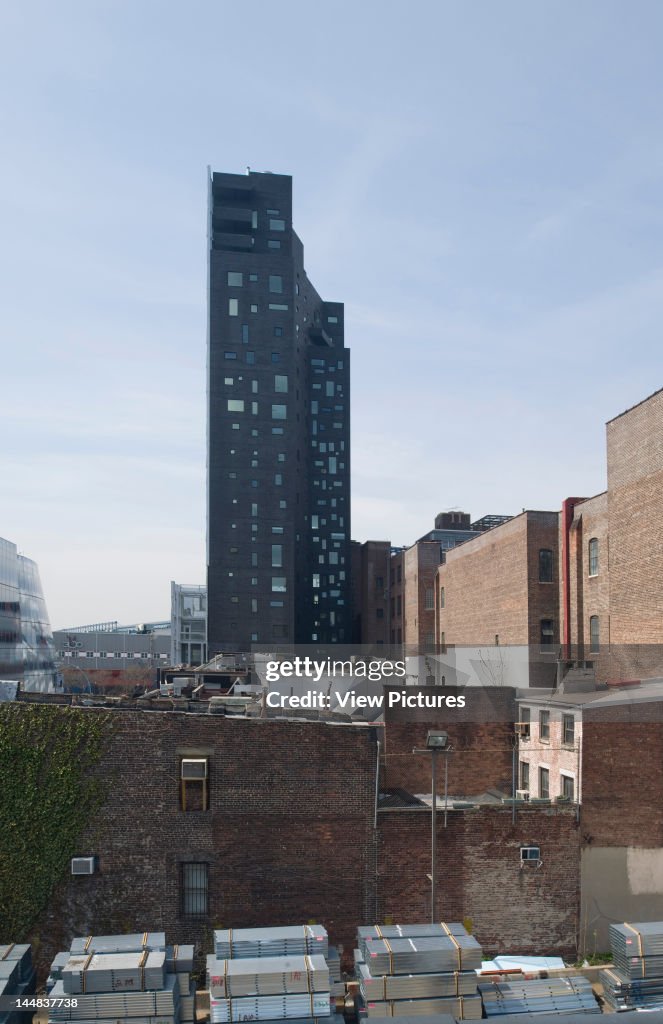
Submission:
M 94 714 L 64 709 L 64 714 Z M 375 730 L 315 722 L 118 713 L 99 773 L 106 805 L 81 838 L 99 871 L 61 884 L 41 955 L 72 936 L 320 921 L 348 943 L 370 915 Z M 179 762 L 209 758 L 209 810 L 183 812 Z M 209 915 L 181 913 L 184 862 L 209 864 Z

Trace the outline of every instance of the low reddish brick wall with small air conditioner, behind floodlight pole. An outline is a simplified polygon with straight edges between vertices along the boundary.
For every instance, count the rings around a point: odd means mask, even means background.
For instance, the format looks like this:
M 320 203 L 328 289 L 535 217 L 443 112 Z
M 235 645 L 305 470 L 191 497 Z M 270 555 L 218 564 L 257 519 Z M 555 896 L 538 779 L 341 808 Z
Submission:
M 429 920 L 430 814 L 379 815 L 378 909 L 393 922 Z M 579 830 L 570 809 L 482 807 L 438 818 L 437 919 L 470 919 L 489 956 L 575 955 L 580 891 Z M 541 866 L 521 866 L 539 846 Z

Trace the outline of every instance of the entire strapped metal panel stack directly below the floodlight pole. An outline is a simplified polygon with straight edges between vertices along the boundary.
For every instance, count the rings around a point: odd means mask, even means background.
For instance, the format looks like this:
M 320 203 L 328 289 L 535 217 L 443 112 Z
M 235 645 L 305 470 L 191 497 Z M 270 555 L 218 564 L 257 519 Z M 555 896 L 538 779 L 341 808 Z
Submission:
M 358 945 L 360 1016 L 481 1018 L 476 970 L 482 948 L 462 925 L 360 928 Z

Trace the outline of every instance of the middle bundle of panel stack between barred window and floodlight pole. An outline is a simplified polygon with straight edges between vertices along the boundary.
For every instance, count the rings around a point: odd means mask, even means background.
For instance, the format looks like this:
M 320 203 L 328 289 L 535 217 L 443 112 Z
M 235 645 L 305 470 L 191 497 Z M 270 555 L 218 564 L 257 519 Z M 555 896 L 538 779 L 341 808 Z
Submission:
M 262 956 L 218 961 L 207 957 L 207 984 L 214 998 L 325 992 L 329 968 L 324 956 Z

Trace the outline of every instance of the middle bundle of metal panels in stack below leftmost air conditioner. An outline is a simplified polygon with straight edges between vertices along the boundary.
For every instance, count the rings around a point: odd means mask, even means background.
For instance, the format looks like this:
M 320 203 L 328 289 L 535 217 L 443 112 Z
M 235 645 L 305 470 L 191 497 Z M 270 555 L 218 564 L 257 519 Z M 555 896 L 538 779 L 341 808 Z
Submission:
M 146 992 L 163 988 L 166 954 L 73 953 L 63 969 L 63 988 L 79 992 Z

